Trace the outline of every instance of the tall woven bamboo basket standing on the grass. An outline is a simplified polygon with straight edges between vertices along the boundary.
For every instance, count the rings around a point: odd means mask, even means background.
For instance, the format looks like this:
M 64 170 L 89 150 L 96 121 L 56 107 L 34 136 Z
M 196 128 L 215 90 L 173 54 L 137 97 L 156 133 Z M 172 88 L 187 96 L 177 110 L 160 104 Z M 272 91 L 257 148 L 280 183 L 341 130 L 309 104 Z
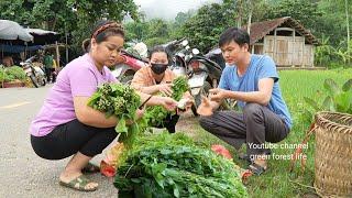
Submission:
M 316 114 L 316 178 L 321 197 L 352 197 L 352 116 Z

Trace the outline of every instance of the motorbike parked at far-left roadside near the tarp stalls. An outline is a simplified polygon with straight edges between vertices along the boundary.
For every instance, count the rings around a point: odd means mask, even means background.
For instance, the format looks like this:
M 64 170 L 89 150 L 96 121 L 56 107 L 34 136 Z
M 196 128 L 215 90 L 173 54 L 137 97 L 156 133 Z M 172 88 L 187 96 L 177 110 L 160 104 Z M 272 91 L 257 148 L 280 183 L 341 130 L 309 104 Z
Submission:
M 40 66 L 33 66 L 33 61 L 35 58 L 36 56 L 32 56 L 29 59 L 21 62 L 20 65 L 25 72 L 25 75 L 31 79 L 34 87 L 38 88 L 40 86 L 46 85 L 46 77 L 43 68 Z

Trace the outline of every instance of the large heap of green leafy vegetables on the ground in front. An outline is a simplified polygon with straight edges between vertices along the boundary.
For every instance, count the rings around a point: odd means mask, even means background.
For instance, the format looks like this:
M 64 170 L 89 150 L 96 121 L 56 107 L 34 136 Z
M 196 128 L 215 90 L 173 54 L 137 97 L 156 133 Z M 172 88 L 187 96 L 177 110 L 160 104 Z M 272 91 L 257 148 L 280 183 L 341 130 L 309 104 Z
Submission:
M 182 133 L 143 136 L 118 167 L 119 195 L 135 197 L 248 197 L 233 162 Z

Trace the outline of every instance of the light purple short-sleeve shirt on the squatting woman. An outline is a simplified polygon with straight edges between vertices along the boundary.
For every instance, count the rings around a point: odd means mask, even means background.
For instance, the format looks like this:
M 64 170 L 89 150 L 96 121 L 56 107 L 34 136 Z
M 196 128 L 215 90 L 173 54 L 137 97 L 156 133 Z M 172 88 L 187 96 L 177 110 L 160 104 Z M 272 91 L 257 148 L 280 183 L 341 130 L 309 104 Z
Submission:
M 44 136 L 55 127 L 76 119 L 74 97 L 90 97 L 103 82 L 117 81 L 108 67 L 100 73 L 89 54 L 67 64 L 57 76 L 44 105 L 32 121 L 30 133 Z

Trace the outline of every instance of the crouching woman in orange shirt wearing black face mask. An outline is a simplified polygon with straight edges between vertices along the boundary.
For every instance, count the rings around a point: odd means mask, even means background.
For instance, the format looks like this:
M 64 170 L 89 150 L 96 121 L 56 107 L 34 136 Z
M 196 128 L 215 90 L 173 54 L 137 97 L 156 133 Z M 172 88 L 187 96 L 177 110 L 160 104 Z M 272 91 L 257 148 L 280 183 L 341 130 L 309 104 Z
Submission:
M 141 92 L 148 95 L 162 94 L 172 96 L 172 81 L 176 78 L 175 74 L 168 69 L 168 54 L 163 46 L 155 46 L 150 53 L 150 66 L 138 70 L 132 79 L 131 86 Z M 191 95 L 187 91 L 184 95 L 186 110 L 193 105 Z M 169 133 L 175 133 L 175 127 L 179 119 L 178 114 L 168 114 L 162 125 L 156 128 L 166 128 Z

